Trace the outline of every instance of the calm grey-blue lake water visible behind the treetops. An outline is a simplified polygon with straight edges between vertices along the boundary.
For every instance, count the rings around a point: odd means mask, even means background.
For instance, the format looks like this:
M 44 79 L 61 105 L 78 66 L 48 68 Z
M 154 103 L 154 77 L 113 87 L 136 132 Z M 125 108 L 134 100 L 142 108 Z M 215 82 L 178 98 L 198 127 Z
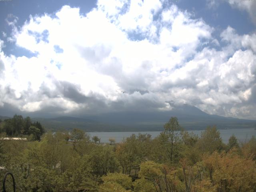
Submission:
M 193 130 L 188 132 L 194 132 L 198 136 L 201 136 L 201 132 L 203 130 Z M 228 143 L 228 139 L 232 134 L 236 136 L 236 138 L 240 141 L 250 140 L 250 138 L 254 135 L 256 136 L 256 130 L 254 128 L 248 129 L 220 129 L 220 136 L 224 143 Z M 150 134 L 152 138 L 155 138 L 160 134 L 160 131 L 140 131 L 140 132 L 88 132 L 88 134 L 92 136 L 98 136 L 100 138 L 100 142 L 109 143 L 109 138 L 115 138 L 116 143 L 122 142 L 123 138 L 130 137 L 132 134 L 138 135 L 141 134 Z

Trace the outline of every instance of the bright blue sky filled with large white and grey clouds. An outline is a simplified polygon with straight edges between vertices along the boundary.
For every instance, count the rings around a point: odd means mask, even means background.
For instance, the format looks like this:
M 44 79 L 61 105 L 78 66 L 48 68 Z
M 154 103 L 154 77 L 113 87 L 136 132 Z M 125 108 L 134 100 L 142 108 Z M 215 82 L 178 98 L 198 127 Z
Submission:
M 0 0 L 0 115 L 256 120 L 255 0 Z

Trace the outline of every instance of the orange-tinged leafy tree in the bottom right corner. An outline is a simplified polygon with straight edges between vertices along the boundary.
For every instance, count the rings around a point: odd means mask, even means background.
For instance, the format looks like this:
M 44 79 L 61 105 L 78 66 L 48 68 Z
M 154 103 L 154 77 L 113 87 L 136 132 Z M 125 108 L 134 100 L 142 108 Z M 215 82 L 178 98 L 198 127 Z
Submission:
M 227 154 L 214 152 L 203 161 L 218 191 L 256 191 L 256 166 L 251 158 L 243 158 L 231 150 Z

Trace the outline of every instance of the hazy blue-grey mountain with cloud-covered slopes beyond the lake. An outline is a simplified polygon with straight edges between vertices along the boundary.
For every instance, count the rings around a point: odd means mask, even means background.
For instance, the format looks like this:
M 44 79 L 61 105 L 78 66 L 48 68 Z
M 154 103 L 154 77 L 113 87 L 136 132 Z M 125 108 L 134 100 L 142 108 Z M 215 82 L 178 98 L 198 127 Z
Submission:
M 158 112 L 116 112 L 86 118 L 58 117 L 32 118 L 50 130 L 86 131 L 161 131 L 170 117 L 176 116 L 186 130 L 203 130 L 216 125 L 218 129 L 256 128 L 256 120 L 245 120 L 218 115 L 210 115 L 195 106 L 184 104 L 169 111 Z

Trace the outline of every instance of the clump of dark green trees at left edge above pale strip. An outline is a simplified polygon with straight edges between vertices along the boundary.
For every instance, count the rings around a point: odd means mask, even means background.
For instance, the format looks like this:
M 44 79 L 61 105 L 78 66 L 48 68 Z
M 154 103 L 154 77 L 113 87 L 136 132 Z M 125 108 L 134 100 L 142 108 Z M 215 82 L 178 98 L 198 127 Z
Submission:
M 13 118 L 0 122 L 1 136 L 27 137 L 29 140 L 40 140 L 45 130 L 40 122 L 32 122 L 30 117 L 23 118 L 21 115 L 14 115 Z

